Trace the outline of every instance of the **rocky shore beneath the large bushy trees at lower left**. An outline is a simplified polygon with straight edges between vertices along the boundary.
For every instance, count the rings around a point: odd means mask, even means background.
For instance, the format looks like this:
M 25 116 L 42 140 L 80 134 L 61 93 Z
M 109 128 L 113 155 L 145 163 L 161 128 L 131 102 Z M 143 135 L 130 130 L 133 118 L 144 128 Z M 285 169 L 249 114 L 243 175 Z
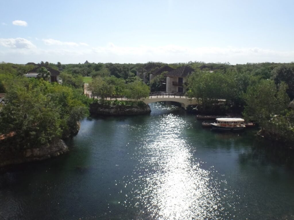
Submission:
M 16 150 L 7 146 L 1 150 L 0 167 L 26 163 L 31 161 L 39 161 L 59 156 L 69 151 L 68 146 L 63 140 L 59 139 L 50 145 L 43 145 L 38 148 Z

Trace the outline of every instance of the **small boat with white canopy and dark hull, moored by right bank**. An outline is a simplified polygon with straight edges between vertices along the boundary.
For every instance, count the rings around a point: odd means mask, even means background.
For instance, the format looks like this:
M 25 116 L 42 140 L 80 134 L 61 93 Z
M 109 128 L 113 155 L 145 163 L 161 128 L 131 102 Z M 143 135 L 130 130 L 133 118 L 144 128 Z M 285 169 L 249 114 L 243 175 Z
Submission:
M 216 123 L 211 123 L 211 128 L 216 131 L 244 131 L 244 119 L 217 118 Z

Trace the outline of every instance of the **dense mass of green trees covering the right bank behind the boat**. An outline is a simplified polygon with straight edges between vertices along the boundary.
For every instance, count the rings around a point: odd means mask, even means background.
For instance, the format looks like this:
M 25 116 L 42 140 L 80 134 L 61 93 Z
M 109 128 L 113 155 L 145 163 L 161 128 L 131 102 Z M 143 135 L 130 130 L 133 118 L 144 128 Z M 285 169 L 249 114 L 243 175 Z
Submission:
M 223 65 L 196 70 L 188 79 L 188 94 L 205 112 L 234 112 L 258 123 L 267 138 L 293 143 L 294 64 Z M 222 102 L 222 100 L 224 100 Z

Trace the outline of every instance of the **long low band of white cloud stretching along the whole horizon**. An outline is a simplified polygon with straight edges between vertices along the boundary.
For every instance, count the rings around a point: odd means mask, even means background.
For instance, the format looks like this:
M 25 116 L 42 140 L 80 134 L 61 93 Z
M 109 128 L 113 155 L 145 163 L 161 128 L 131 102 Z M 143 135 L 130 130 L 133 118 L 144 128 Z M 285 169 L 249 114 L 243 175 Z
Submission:
M 21 40 L 20 40 L 21 39 Z M 113 43 L 90 48 L 81 43 L 61 42 L 46 39 L 48 45 L 75 45 L 74 47 L 36 48 L 29 40 L 23 38 L 1 39 L 0 60 L 4 62 L 26 63 L 31 60 L 46 60 L 48 62 L 79 63 L 86 60 L 93 62 L 145 63 L 160 61 L 166 63 L 203 61 L 203 62 L 291 62 L 294 61 L 294 50 L 278 51 L 263 48 L 233 48 L 233 47 L 198 47 L 190 48 L 179 45 L 164 45 L 160 47 L 121 47 Z M 16 41 L 20 43 L 16 43 Z M 70 44 L 68 44 L 70 43 Z M 78 45 L 78 46 L 77 46 Z M 13 50 L 11 48 L 29 48 Z

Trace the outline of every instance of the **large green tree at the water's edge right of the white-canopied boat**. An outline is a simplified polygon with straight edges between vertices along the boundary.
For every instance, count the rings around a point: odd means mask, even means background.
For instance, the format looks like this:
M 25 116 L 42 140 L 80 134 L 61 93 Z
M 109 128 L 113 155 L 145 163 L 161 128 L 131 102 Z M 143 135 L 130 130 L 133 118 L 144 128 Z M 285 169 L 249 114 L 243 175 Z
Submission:
M 294 111 L 287 109 L 290 101 L 287 87 L 281 82 L 277 88 L 273 80 L 261 80 L 248 87 L 244 94 L 246 106 L 243 115 L 261 126 L 263 136 L 293 145 Z

